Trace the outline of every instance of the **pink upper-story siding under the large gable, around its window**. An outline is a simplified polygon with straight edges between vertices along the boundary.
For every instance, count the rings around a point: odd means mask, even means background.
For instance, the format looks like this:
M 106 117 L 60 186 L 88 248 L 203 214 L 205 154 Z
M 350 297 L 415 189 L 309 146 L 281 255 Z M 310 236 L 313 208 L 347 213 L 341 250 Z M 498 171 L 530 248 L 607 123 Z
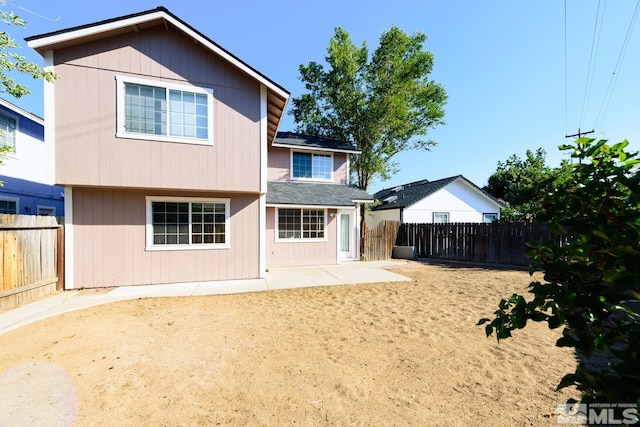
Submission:
M 54 52 L 56 182 L 260 189 L 259 84 L 164 26 Z M 214 146 L 116 138 L 116 75 L 214 89 Z

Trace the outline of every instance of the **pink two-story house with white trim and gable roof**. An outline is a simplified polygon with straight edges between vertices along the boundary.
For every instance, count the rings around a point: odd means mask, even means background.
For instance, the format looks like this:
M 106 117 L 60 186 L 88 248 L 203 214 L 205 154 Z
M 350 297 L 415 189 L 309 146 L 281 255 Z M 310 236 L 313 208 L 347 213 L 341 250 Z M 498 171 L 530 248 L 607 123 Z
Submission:
M 278 136 L 289 92 L 159 7 L 26 39 L 65 188 L 67 288 L 358 256 L 349 144 Z

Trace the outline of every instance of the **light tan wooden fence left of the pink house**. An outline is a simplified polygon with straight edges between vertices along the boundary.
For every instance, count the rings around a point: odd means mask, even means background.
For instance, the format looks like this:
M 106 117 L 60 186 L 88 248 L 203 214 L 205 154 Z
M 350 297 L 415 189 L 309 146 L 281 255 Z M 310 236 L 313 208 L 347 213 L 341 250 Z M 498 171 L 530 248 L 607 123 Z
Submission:
M 0 312 L 63 288 L 63 244 L 55 217 L 0 215 Z

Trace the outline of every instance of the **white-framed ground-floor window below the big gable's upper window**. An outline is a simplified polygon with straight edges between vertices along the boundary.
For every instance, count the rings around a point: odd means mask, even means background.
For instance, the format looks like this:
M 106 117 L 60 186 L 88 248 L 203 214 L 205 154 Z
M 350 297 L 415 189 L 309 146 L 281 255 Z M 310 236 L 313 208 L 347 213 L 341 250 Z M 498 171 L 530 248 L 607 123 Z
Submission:
M 147 250 L 230 247 L 230 199 L 147 197 Z

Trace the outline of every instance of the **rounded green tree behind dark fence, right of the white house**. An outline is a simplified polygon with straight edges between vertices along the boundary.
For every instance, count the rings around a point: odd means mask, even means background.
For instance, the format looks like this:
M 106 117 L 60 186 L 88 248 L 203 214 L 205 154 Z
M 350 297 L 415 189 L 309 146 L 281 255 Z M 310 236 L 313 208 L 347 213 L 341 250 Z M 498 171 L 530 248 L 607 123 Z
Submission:
M 514 154 L 498 162 L 484 190 L 508 203 L 500 213 L 501 221 L 535 219 L 542 212 L 542 197 L 568 178 L 570 165 L 563 162 L 560 167 L 551 168 L 546 164 L 546 155 L 545 150 L 538 148 L 535 153 L 527 150 L 524 159 Z

